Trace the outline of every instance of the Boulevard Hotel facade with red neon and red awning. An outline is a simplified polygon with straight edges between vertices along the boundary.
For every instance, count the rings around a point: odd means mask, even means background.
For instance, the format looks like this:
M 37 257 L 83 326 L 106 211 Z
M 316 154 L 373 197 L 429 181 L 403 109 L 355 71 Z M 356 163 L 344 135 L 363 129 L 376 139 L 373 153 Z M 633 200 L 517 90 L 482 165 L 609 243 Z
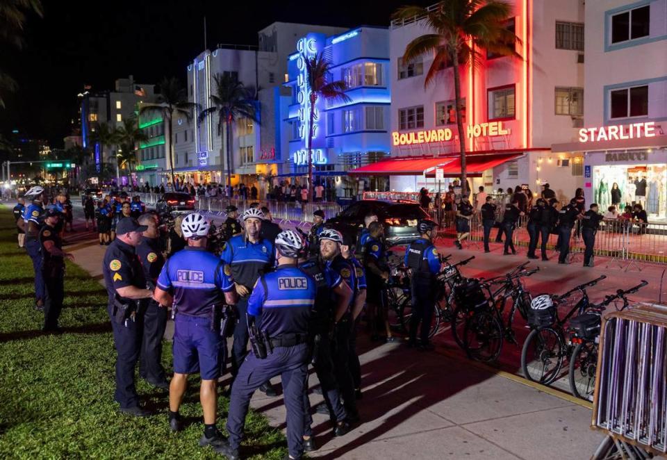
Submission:
M 481 185 L 497 190 L 527 184 L 537 192 L 538 184 L 548 181 L 564 199 L 581 186 L 582 156 L 558 156 L 550 147 L 583 126 L 584 5 L 580 0 L 510 3 L 507 28 L 520 39 L 518 57 L 483 51 L 481 65 L 460 69 L 468 176 L 475 191 Z M 406 45 L 425 33 L 429 29 L 420 20 L 391 23 L 392 159 L 352 172 L 386 174 L 395 191 L 437 191 L 461 172 L 452 67 L 440 70 L 425 88 L 433 57 L 402 62 Z M 443 179 L 436 180 L 440 173 Z

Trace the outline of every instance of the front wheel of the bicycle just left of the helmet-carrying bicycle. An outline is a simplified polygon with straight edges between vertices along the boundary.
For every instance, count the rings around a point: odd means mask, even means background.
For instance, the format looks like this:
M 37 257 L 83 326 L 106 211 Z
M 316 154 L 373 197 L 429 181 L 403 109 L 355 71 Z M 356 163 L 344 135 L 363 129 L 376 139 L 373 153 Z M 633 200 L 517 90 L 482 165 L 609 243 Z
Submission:
M 475 312 L 463 328 L 463 350 L 475 361 L 488 363 L 497 359 L 502 349 L 502 327 L 490 310 Z

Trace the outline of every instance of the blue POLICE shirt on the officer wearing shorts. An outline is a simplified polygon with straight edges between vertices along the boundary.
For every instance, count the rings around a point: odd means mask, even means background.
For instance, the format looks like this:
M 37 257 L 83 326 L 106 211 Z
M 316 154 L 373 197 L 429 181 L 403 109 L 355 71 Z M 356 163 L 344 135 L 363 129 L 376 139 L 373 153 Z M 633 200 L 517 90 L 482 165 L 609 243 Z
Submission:
M 208 316 L 234 288 L 231 269 L 203 247 L 186 247 L 169 258 L 158 288 L 172 293 L 179 315 Z

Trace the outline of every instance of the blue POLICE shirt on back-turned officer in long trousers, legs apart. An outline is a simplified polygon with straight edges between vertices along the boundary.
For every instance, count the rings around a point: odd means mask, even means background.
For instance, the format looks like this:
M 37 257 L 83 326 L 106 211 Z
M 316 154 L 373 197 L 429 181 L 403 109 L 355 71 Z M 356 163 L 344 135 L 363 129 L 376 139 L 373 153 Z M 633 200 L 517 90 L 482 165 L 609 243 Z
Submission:
M 248 300 L 248 314 L 261 316 L 258 329 L 272 337 L 306 334 L 317 287 L 296 265 L 279 265 L 257 280 Z

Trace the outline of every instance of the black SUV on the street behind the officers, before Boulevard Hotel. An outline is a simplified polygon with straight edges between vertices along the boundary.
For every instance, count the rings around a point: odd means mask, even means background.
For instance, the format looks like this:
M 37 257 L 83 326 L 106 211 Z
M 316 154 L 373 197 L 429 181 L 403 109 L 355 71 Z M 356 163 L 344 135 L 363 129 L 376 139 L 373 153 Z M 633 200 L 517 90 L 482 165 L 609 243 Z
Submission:
M 390 246 L 406 245 L 419 238 L 417 223 L 429 217 L 415 202 L 364 199 L 331 217 L 326 226 L 340 231 L 343 236 L 355 238 L 369 213 L 377 214 L 377 220 L 384 224 L 385 239 Z

